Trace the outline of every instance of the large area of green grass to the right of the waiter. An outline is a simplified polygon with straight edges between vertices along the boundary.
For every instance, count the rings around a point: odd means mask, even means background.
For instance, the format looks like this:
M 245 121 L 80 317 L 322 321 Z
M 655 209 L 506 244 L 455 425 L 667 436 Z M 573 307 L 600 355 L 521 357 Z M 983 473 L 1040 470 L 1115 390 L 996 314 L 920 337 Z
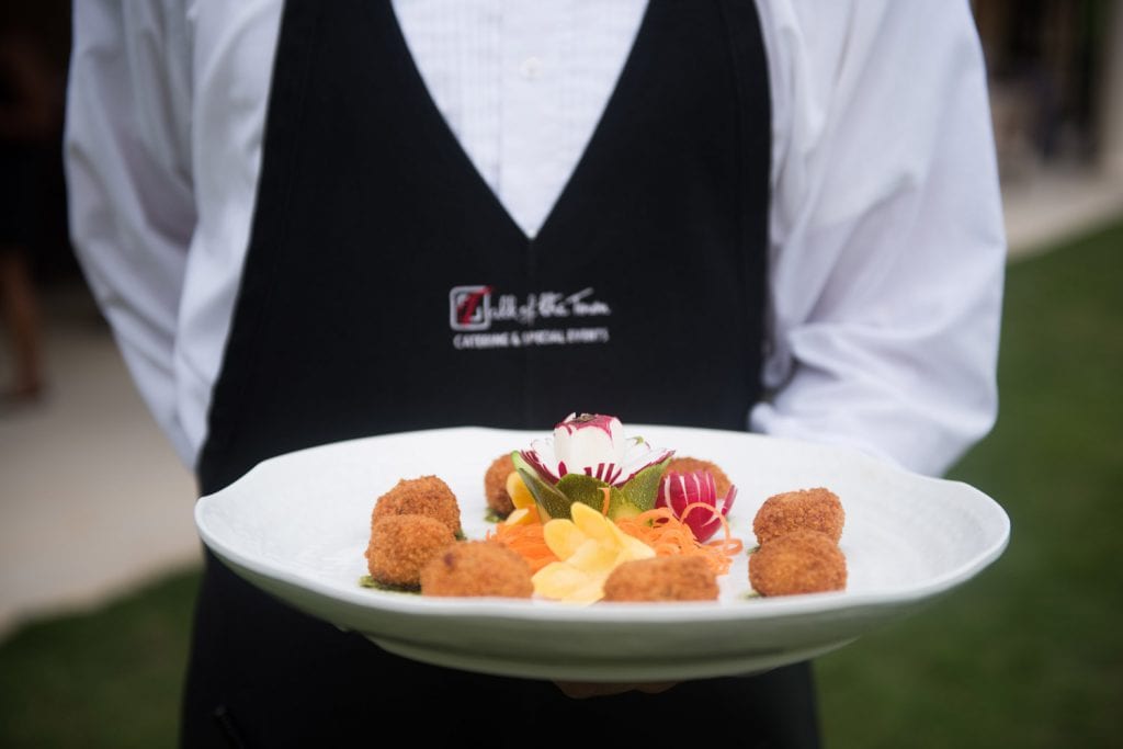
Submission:
M 1010 547 L 818 661 L 829 749 L 1120 746 L 1121 284 L 1123 225 L 1010 267 L 998 422 L 950 474 L 1006 509 Z

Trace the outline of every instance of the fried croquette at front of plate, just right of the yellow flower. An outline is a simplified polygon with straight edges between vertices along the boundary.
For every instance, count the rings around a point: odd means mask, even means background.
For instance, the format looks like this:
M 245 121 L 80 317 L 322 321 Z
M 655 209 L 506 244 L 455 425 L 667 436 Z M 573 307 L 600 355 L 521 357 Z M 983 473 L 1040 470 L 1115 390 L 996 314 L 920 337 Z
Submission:
M 702 557 L 669 556 L 618 565 L 604 581 L 603 601 L 714 601 L 718 576 Z

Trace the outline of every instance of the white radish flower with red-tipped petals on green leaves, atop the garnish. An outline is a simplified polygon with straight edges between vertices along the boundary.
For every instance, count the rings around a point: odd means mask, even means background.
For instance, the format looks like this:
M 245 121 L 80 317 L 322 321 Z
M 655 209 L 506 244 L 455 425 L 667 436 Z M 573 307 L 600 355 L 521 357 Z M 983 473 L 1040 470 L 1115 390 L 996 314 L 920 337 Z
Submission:
M 574 502 L 611 519 L 655 506 L 659 477 L 673 450 L 654 448 L 640 437 L 626 437 L 615 417 L 570 413 L 551 437 L 512 454 L 515 469 L 547 518 L 568 518 Z

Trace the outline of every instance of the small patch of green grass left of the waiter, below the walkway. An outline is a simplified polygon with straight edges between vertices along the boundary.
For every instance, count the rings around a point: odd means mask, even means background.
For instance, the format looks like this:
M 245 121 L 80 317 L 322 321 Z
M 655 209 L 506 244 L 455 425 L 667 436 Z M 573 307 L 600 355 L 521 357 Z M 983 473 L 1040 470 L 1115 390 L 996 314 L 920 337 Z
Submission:
M 199 575 L 0 645 L 0 747 L 174 747 Z

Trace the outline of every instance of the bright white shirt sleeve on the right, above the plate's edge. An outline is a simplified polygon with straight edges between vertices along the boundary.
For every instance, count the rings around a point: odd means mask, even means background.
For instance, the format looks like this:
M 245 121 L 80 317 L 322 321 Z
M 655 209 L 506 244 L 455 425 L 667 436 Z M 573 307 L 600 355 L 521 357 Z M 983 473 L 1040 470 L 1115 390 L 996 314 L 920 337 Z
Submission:
M 997 413 L 1006 248 L 969 4 L 759 6 L 778 109 L 750 427 L 941 474 Z

